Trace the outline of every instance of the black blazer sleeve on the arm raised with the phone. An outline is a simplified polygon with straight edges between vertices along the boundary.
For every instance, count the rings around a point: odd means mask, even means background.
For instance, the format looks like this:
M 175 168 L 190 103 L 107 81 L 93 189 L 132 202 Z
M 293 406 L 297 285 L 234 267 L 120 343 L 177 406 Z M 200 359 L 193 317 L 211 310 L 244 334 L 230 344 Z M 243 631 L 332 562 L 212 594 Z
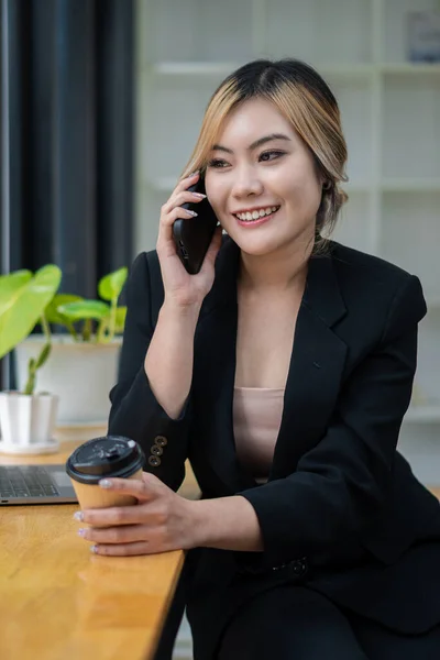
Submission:
M 188 455 L 190 397 L 178 419 L 172 419 L 157 403 L 144 370 L 153 337 L 152 282 L 146 253 L 134 261 L 125 287 L 127 319 L 117 385 L 110 392 L 110 435 L 139 442 L 146 462 L 144 470 L 155 474 L 174 491 L 185 477 Z

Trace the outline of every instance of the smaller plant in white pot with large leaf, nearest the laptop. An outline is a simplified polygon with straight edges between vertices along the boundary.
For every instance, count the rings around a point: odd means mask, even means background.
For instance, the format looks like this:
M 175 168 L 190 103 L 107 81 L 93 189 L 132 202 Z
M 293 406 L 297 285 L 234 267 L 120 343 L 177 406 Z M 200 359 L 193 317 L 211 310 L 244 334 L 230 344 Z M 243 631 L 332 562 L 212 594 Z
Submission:
M 47 391 L 36 393 L 37 372 L 52 350 L 51 329 L 45 310 L 58 290 L 62 273 L 53 264 L 34 274 L 15 271 L 0 276 L 0 359 L 30 336 L 36 324 L 43 341 L 23 365 L 23 384 L 16 392 L 0 393 L 0 448 L 10 453 L 53 450 L 53 429 L 58 397 Z M 40 385 L 40 384 L 38 384 Z

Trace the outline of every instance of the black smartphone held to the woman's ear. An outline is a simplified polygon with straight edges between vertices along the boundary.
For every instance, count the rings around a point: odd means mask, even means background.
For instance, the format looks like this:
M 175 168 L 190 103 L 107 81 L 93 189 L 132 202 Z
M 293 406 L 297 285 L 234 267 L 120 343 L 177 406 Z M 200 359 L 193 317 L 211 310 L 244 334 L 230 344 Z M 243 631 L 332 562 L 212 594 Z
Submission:
M 205 193 L 205 182 L 200 178 L 194 186 L 188 188 L 191 193 Z M 196 211 L 195 218 L 178 218 L 173 224 L 173 237 L 176 243 L 177 254 L 186 271 L 196 275 L 204 263 L 208 248 L 211 244 L 216 227 L 217 216 L 208 199 L 183 204 L 182 208 Z

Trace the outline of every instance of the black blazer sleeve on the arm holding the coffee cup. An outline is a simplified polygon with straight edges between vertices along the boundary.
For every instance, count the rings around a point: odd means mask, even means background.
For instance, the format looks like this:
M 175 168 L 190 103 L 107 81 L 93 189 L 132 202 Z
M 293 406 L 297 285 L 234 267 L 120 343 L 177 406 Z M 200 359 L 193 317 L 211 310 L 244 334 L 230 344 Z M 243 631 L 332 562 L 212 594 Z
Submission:
M 295 558 L 330 557 L 359 540 L 381 513 L 392 482 L 400 425 L 417 363 L 417 326 L 427 308 L 408 276 L 394 296 L 378 345 L 341 391 L 326 435 L 286 479 L 239 493 L 254 507 L 264 551 L 237 553 L 241 568 L 264 570 Z

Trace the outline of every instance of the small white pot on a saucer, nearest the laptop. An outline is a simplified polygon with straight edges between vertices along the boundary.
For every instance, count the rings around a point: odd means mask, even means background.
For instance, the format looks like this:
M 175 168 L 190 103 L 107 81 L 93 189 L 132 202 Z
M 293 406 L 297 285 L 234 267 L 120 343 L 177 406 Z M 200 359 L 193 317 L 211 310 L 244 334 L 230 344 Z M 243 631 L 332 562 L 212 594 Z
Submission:
M 0 451 L 41 453 L 54 449 L 58 397 L 0 392 Z

